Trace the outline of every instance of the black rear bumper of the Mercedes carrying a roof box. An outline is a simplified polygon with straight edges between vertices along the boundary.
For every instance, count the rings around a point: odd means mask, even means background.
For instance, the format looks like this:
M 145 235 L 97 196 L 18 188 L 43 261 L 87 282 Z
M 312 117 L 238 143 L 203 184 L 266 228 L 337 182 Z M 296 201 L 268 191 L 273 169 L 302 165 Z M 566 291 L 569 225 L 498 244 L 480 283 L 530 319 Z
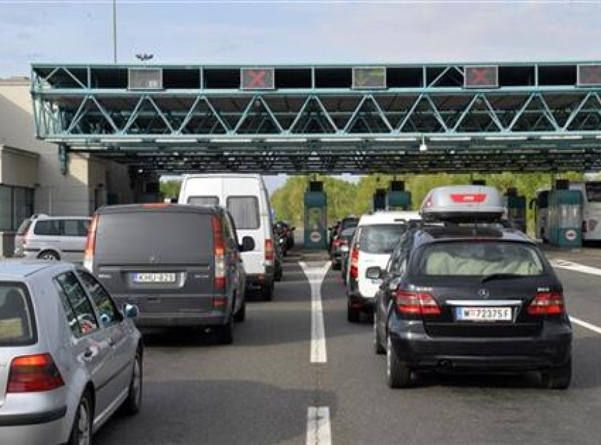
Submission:
M 567 323 L 545 323 L 537 337 L 430 337 L 421 321 L 391 321 L 394 350 L 412 369 L 444 371 L 545 370 L 571 357 L 572 331 Z

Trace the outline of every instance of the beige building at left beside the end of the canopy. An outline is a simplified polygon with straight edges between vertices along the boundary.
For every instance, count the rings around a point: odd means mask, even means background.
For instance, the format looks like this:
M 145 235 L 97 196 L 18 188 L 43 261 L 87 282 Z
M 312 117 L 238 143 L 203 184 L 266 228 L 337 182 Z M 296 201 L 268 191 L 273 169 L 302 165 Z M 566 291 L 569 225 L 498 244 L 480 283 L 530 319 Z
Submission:
M 136 202 L 144 187 L 128 167 L 87 154 L 69 153 L 62 174 L 58 147 L 35 138 L 29 79 L 0 79 L 0 256 L 32 214 L 88 216 Z

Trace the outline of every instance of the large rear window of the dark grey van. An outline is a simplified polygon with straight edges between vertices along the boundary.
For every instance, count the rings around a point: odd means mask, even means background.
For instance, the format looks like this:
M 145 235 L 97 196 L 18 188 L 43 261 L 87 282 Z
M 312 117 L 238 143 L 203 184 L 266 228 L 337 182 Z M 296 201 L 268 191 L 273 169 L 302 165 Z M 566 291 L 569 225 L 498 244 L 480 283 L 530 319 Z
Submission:
M 211 216 L 160 210 L 101 214 L 96 261 L 103 265 L 204 263 L 213 252 Z

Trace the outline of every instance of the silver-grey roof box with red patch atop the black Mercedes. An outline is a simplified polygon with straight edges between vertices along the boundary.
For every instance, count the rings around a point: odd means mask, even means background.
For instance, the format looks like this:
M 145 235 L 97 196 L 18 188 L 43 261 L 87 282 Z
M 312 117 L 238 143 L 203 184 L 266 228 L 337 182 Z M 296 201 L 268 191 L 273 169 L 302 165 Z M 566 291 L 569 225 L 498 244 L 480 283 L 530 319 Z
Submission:
M 424 220 L 478 222 L 499 220 L 505 211 L 495 187 L 453 185 L 430 190 L 421 205 Z

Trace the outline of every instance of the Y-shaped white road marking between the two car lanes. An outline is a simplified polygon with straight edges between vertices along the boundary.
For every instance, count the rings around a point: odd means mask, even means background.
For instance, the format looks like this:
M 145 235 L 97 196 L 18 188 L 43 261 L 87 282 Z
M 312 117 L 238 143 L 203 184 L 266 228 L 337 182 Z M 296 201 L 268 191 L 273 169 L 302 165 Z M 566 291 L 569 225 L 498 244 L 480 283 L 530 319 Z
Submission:
M 327 354 L 325 351 L 325 329 L 323 326 L 323 307 L 321 305 L 321 283 L 330 270 L 331 261 L 323 267 L 309 267 L 300 261 L 300 268 L 311 285 L 311 363 L 325 363 Z

